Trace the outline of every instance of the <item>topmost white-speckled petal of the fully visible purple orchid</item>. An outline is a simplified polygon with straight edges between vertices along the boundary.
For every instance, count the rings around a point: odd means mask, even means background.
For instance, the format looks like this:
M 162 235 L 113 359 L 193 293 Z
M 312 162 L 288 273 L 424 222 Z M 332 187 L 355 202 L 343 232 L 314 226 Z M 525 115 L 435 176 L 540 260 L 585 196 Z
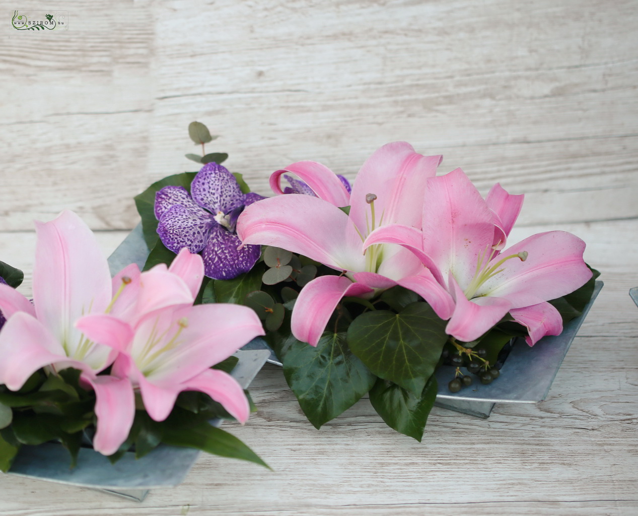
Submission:
M 191 183 L 193 201 L 213 214 L 228 213 L 239 206 L 244 194 L 237 179 L 218 163 L 207 163 Z

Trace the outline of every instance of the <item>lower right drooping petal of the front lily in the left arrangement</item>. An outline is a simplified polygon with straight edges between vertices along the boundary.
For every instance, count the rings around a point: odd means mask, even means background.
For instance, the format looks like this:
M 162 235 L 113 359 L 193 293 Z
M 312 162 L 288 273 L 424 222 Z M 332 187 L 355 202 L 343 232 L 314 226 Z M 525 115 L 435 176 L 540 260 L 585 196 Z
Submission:
M 203 392 L 221 403 L 221 406 L 237 421 L 246 423 L 248 420 L 250 415 L 248 398 L 237 380 L 224 371 L 207 369 L 182 383 L 182 390 Z

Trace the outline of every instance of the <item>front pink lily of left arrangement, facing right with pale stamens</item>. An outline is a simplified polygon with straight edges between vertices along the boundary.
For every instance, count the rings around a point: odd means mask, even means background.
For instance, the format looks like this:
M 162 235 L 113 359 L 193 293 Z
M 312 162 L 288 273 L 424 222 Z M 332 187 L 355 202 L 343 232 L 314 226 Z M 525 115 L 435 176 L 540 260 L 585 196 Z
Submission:
M 204 270 L 204 263 L 197 257 Z M 239 383 L 212 365 L 228 358 L 246 342 L 263 335 L 262 324 L 251 308 L 216 303 L 195 307 L 168 307 L 129 324 L 108 314 L 87 315 L 78 321 L 85 335 L 109 345 L 119 354 L 112 376 L 121 379 L 133 397 L 139 391 L 144 407 L 155 421 L 165 420 L 177 395 L 195 390 L 206 393 L 237 420 L 248 419 L 249 404 Z M 98 433 L 94 447 L 114 453 L 128 436 L 135 407 L 103 404 L 103 415 L 114 431 Z M 99 416 L 98 416 L 99 417 Z M 105 453 L 103 452 L 103 453 Z

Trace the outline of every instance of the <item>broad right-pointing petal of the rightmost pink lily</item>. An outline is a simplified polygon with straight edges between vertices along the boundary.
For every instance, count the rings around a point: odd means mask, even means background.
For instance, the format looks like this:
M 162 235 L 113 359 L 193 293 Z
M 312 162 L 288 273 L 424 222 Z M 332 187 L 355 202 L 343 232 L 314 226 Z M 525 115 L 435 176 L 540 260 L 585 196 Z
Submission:
M 527 252 L 526 261 L 509 259 L 503 271 L 487 280 L 477 295 L 497 296 L 511 308 L 529 307 L 549 301 L 584 285 L 591 271 L 582 259 L 585 243 L 571 233 L 549 231 L 526 238 L 501 252 L 503 256 Z

